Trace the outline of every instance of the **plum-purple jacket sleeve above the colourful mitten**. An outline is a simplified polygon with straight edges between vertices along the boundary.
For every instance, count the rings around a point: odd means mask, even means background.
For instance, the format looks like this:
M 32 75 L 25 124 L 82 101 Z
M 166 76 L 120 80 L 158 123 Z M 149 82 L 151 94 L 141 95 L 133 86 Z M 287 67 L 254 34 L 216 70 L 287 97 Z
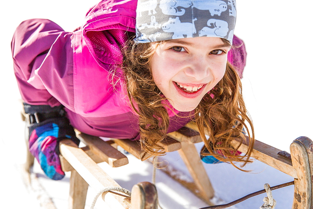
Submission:
M 63 104 L 74 110 L 72 37 L 46 19 L 30 19 L 18 26 L 11 47 L 14 73 L 26 103 Z

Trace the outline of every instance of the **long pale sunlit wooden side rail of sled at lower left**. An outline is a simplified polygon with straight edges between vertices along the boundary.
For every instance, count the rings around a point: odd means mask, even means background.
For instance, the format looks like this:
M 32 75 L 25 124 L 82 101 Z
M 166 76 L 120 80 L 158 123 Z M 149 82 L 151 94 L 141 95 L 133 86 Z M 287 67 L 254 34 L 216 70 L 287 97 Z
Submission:
M 60 142 L 60 153 L 96 191 L 105 187 L 121 187 L 71 140 Z M 115 192 L 104 192 L 102 198 L 111 208 L 130 207 L 129 199 Z

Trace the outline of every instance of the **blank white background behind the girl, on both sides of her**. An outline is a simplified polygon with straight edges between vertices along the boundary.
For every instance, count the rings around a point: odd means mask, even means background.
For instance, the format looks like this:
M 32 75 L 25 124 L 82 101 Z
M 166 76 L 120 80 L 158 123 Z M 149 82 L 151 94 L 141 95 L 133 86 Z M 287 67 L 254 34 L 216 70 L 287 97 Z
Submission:
M 14 30 L 25 19 L 47 18 L 65 31 L 72 31 L 82 24 L 85 13 L 97 2 L 17 0 L 1 3 L 0 154 L 3 167 L 0 177 L 1 187 L 7 188 L 9 194 L 4 197 L 14 205 L 25 206 L 23 201 L 28 201 L 23 196 L 17 202 L 13 198 L 14 193 L 22 190 L 19 175 L 14 171 L 24 161 L 25 154 L 20 96 L 10 49 Z M 295 1 L 239 0 L 237 14 L 235 34 L 244 40 L 248 53 L 243 93 L 256 139 L 289 152 L 290 143 L 297 137 L 304 135 L 313 139 L 311 9 Z

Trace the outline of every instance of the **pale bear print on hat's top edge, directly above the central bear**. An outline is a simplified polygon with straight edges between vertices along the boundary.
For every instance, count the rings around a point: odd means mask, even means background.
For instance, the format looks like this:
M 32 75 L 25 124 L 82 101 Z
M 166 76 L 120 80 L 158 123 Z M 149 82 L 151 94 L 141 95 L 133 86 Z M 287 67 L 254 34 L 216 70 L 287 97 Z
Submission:
M 185 14 L 186 10 L 180 9 L 180 11 L 178 11 L 177 7 L 189 8 L 191 5 L 192 3 L 190 1 L 160 1 L 160 8 L 162 10 L 162 13 L 167 15 L 182 16 L 183 14 Z

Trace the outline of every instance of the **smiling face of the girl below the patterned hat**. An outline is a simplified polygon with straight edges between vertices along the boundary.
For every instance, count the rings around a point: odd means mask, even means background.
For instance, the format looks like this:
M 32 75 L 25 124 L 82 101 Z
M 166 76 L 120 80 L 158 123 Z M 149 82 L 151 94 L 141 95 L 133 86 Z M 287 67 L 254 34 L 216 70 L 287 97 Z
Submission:
M 152 46 L 154 82 L 178 111 L 194 110 L 225 74 L 230 45 L 221 38 L 180 38 Z

